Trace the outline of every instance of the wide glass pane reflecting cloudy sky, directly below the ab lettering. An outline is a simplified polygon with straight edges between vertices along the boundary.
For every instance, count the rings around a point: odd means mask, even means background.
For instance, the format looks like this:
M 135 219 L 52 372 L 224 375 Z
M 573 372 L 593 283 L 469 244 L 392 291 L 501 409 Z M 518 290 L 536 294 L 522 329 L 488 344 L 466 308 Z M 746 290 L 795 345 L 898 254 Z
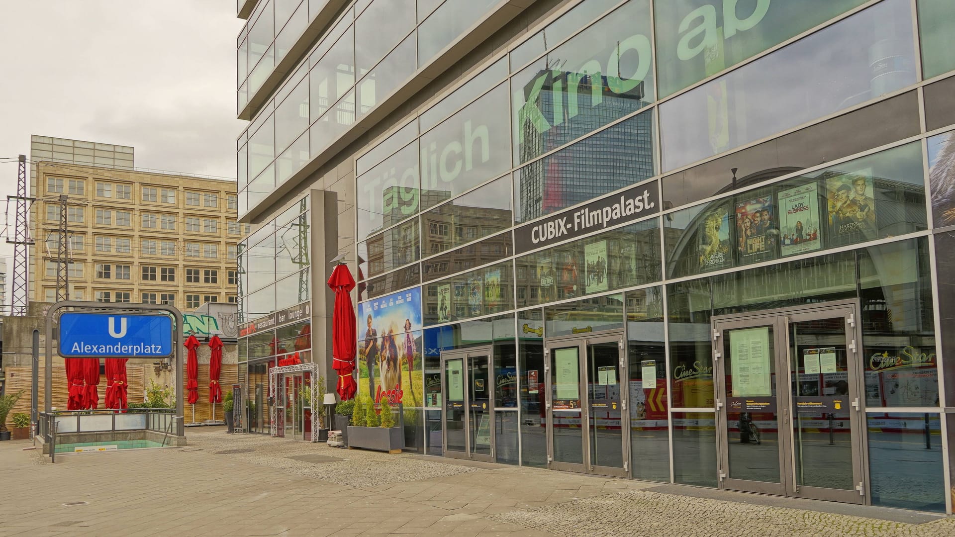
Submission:
M 901 89 L 916 81 L 914 55 L 907 1 L 887 0 L 859 11 L 664 103 L 663 169 Z M 839 73 L 839 84 L 832 83 L 833 73 Z M 820 91 L 806 92 L 807 87 Z M 784 114 L 780 102 L 787 103 Z

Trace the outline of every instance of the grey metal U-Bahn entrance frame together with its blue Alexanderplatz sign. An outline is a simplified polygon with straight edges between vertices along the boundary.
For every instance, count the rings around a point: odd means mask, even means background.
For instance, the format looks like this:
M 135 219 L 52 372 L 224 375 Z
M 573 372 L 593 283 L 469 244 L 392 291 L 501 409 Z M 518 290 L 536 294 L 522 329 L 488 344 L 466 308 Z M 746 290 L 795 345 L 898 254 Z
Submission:
M 70 311 L 63 311 L 67 309 Z M 43 404 L 47 414 L 53 408 L 54 339 L 58 354 L 66 358 L 173 358 L 176 376 L 175 419 L 179 419 L 176 435 L 182 436 L 184 394 L 181 326 L 182 313 L 166 304 L 91 306 L 89 302 L 57 302 L 47 311 L 47 355 L 43 371 Z

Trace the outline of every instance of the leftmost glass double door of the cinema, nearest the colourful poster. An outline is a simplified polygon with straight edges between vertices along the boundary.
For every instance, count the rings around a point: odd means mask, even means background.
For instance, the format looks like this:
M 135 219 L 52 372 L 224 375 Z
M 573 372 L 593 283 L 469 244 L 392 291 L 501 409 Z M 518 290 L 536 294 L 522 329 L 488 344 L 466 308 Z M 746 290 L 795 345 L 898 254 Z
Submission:
M 494 386 L 491 350 L 441 354 L 444 455 L 494 462 Z

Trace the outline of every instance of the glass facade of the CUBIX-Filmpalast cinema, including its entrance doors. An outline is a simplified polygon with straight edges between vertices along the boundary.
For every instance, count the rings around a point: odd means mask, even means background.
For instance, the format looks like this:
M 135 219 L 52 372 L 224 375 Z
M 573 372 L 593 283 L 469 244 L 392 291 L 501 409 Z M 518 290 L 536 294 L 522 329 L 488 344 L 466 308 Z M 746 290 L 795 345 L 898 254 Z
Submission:
M 491 9 L 378 2 L 240 138 L 248 204 Z M 406 448 L 950 509 L 949 3 L 568 4 L 349 155 L 358 381 L 407 360 Z M 293 222 L 244 245 L 244 311 L 295 303 Z

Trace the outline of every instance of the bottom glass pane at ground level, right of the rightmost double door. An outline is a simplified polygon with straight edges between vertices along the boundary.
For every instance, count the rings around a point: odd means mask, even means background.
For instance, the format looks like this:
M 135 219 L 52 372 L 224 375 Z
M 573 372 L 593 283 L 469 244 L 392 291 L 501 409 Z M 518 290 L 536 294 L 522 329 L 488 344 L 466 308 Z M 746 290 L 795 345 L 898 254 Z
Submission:
M 872 505 L 944 512 L 938 414 L 866 415 Z

